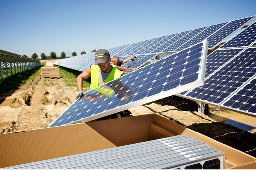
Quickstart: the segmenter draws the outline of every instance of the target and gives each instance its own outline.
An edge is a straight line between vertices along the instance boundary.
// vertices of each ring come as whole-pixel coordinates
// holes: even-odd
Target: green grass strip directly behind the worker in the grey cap
[[[65,84],[69,87],[77,87],[77,76],[81,71],[59,67],[60,77],[62,77]],[[90,80],[83,81],[83,90],[86,91],[90,88]]]

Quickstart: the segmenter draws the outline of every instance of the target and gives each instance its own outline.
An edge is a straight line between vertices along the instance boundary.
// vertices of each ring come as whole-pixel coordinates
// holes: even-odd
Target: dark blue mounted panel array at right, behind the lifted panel
[[[205,85],[179,95],[256,116],[255,30],[256,22],[208,55]]]

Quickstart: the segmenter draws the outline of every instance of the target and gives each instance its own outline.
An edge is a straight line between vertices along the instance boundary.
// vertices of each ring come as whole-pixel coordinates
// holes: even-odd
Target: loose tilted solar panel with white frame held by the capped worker
[[[50,127],[92,121],[203,85],[207,45],[205,40],[85,92]]]

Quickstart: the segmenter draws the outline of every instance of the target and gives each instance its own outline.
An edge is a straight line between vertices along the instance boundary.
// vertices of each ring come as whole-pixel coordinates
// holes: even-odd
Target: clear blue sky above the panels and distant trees
[[[256,0],[0,0],[0,49],[91,53],[256,15]]]

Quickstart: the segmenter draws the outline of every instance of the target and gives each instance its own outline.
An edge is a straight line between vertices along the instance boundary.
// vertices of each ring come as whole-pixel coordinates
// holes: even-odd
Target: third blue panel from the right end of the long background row
[[[192,30],[175,43],[171,42],[171,43],[165,43],[164,45],[161,45],[161,47],[159,47],[159,50],[162,50],[161,52],[175,51],[175,49],[177,49],[177,47],[181,46],[183,43],[187,42],[194,36],[198,35],[200,32],[202,32],[206,28],[207,27]]]

